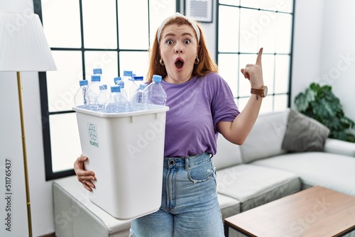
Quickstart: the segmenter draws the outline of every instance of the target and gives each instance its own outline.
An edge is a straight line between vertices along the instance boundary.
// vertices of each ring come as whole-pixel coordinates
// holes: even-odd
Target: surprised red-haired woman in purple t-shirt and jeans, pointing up
[[[201,27],[175,13],[155,34],[147,78],[163,77],[168,95],[160,209],[133,219],[131,236],[224,236],[212,156],[217,134],[241,145],[266,96],[261,70],[262,48],[255,64],[241,73],[251,83],[251,97],[241,113],[229,86],[217,74]],[[92,191],[94,172],[84,170],[87,157],[75,161],[77,178]]]

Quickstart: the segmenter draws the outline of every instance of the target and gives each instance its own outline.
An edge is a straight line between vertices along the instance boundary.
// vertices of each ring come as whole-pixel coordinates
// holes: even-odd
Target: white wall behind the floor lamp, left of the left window
[[[0,11],[31,11],[32,0],[0,1]],[[21,123],[16,72],[0,72],[0,236],[28,236],[26,192],[23,172]],[[33,236],[54,232],[51,182],[45,182],[38,73],[23,72],[23,106],[26,128],[28,175]],[[7,202],[4,195],[4,162],[12,160],[11,232],[5,229]]]

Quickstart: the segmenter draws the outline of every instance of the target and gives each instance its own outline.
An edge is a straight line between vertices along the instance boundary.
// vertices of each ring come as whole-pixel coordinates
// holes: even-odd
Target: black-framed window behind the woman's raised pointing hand
[[[263,79],[268,97],[261,113],[290,106],[293,0],[219,0],[217,62],[240,109],[250,97],[250,83],[240,69],[263,48]]]

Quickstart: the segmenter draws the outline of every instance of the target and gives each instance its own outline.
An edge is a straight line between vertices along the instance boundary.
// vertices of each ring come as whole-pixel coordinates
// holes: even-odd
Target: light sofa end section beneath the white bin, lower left
[[[131,221],[120,221],[90,202],[88,191],[76,176],[53,182],[55,235],[75,236],[129,236]]]

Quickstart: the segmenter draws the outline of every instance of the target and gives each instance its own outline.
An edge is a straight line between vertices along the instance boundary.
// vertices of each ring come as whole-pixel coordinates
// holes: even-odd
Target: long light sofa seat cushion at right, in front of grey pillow
[[[349,156],[322,152],[290,153],[257,160],[253,165],[293,172],[302,180],[303,189],[319,185],[355,196],[355,158]]]

